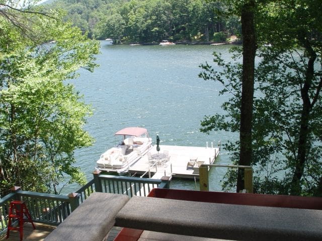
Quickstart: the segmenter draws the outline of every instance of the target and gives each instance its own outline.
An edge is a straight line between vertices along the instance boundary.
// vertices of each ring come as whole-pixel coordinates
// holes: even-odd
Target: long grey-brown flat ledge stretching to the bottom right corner
[[[230,240],[322,240],[322,210],[132,197],[116,226]]]

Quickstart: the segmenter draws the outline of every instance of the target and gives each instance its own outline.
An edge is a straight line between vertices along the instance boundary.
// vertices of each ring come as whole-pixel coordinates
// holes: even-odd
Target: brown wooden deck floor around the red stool
[[[36,229],[34,229],[31,223],[25,223],[23,240],[28,241],[42,241],[49,233],[56,228],[48,224],[35,223]],[[121,230],[121,227],[114,226],[106,241],[113,241],[116,235]],[[20,233],[16,230],[10,230],[9,238],[7,239],[6,233],[0,235],[0,241],[20,241]]]

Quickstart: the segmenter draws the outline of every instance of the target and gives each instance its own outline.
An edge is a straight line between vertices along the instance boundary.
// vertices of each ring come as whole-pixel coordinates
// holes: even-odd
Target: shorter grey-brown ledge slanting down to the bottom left
[[[114,226],[116,214],[128,200],[126,195],[94,192],[44,240],[103,240]]]

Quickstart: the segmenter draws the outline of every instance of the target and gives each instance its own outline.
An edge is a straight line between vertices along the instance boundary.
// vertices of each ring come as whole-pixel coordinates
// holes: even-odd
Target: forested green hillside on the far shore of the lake
[[[57,0],[50,7],[67,12],[66,21],[95,39],[114,43],[225,41],[240,34],[239,18],[222,13],[223,1],[203,0]]]

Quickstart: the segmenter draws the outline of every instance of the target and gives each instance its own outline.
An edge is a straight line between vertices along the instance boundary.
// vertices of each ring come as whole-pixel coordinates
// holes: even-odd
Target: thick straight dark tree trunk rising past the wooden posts
[[[240,153],[239,165],[252,163],[252,118],[254,97],[254,71],[256,55],[256,36],[254,23],[255,1],[250,0],[241,8],[241,33],[243,34],[243,76],[240,106]],[[237,189],[244,186],[244,170],[238,169]]]

